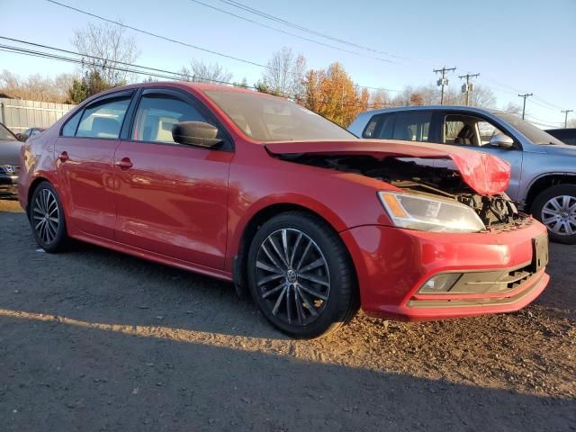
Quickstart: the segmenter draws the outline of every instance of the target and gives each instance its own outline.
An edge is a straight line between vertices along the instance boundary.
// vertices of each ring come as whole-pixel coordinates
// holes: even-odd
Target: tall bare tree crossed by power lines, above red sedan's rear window
[[[85,56],[83,65],[89,74],[98,74],[112,86],[122,85],[130,79],[130,66],[126,64],[133,63],[139,51],[134,38],[126,34],[125,27],[88,23],[85,29],[74,31],[71,42]]]

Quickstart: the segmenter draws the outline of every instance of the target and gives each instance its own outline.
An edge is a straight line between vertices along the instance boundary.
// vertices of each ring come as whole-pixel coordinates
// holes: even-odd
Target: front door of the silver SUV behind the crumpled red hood
[[[465,128],[467,130],[464,130]],[[499,148],[490,145],[491,137],[498,133],[508,135],[513,139],[514,135],[511,132],[490,119],[468,112],[444,112],[442,130],[442,142],[445,144],[490,153],[509,162],[510,183],[506,193],[513,200],[518,200],[524,157],[520,143],[516,142],[515,139],[512,148]]]

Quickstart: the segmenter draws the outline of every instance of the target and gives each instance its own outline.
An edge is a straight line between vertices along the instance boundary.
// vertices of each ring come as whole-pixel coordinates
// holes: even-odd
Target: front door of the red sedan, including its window
[[[190,94],[146,88],[133,116],[129,139],[114,160],[116,239],[196,265],[224,267],[228,223],[231,140],[211,149],[177,144],[172,126],[206,121],[210,112]],[[221,128],[220,128],[221,130]],[[223,130],[220,134],[225,133]]]

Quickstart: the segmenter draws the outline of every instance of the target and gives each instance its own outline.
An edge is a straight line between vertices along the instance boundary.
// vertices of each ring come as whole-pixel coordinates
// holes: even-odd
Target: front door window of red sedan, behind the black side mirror
[[[145,94],[139,102],[131,138],[173,143],[172,126],[180,121],[206,119],[190,103],[166,94]]]

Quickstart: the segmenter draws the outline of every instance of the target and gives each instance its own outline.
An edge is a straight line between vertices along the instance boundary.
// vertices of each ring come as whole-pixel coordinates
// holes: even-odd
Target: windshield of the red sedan
[[[248,137],[258,141],[356,139],[297,103],[257,93],[204,92]]]

